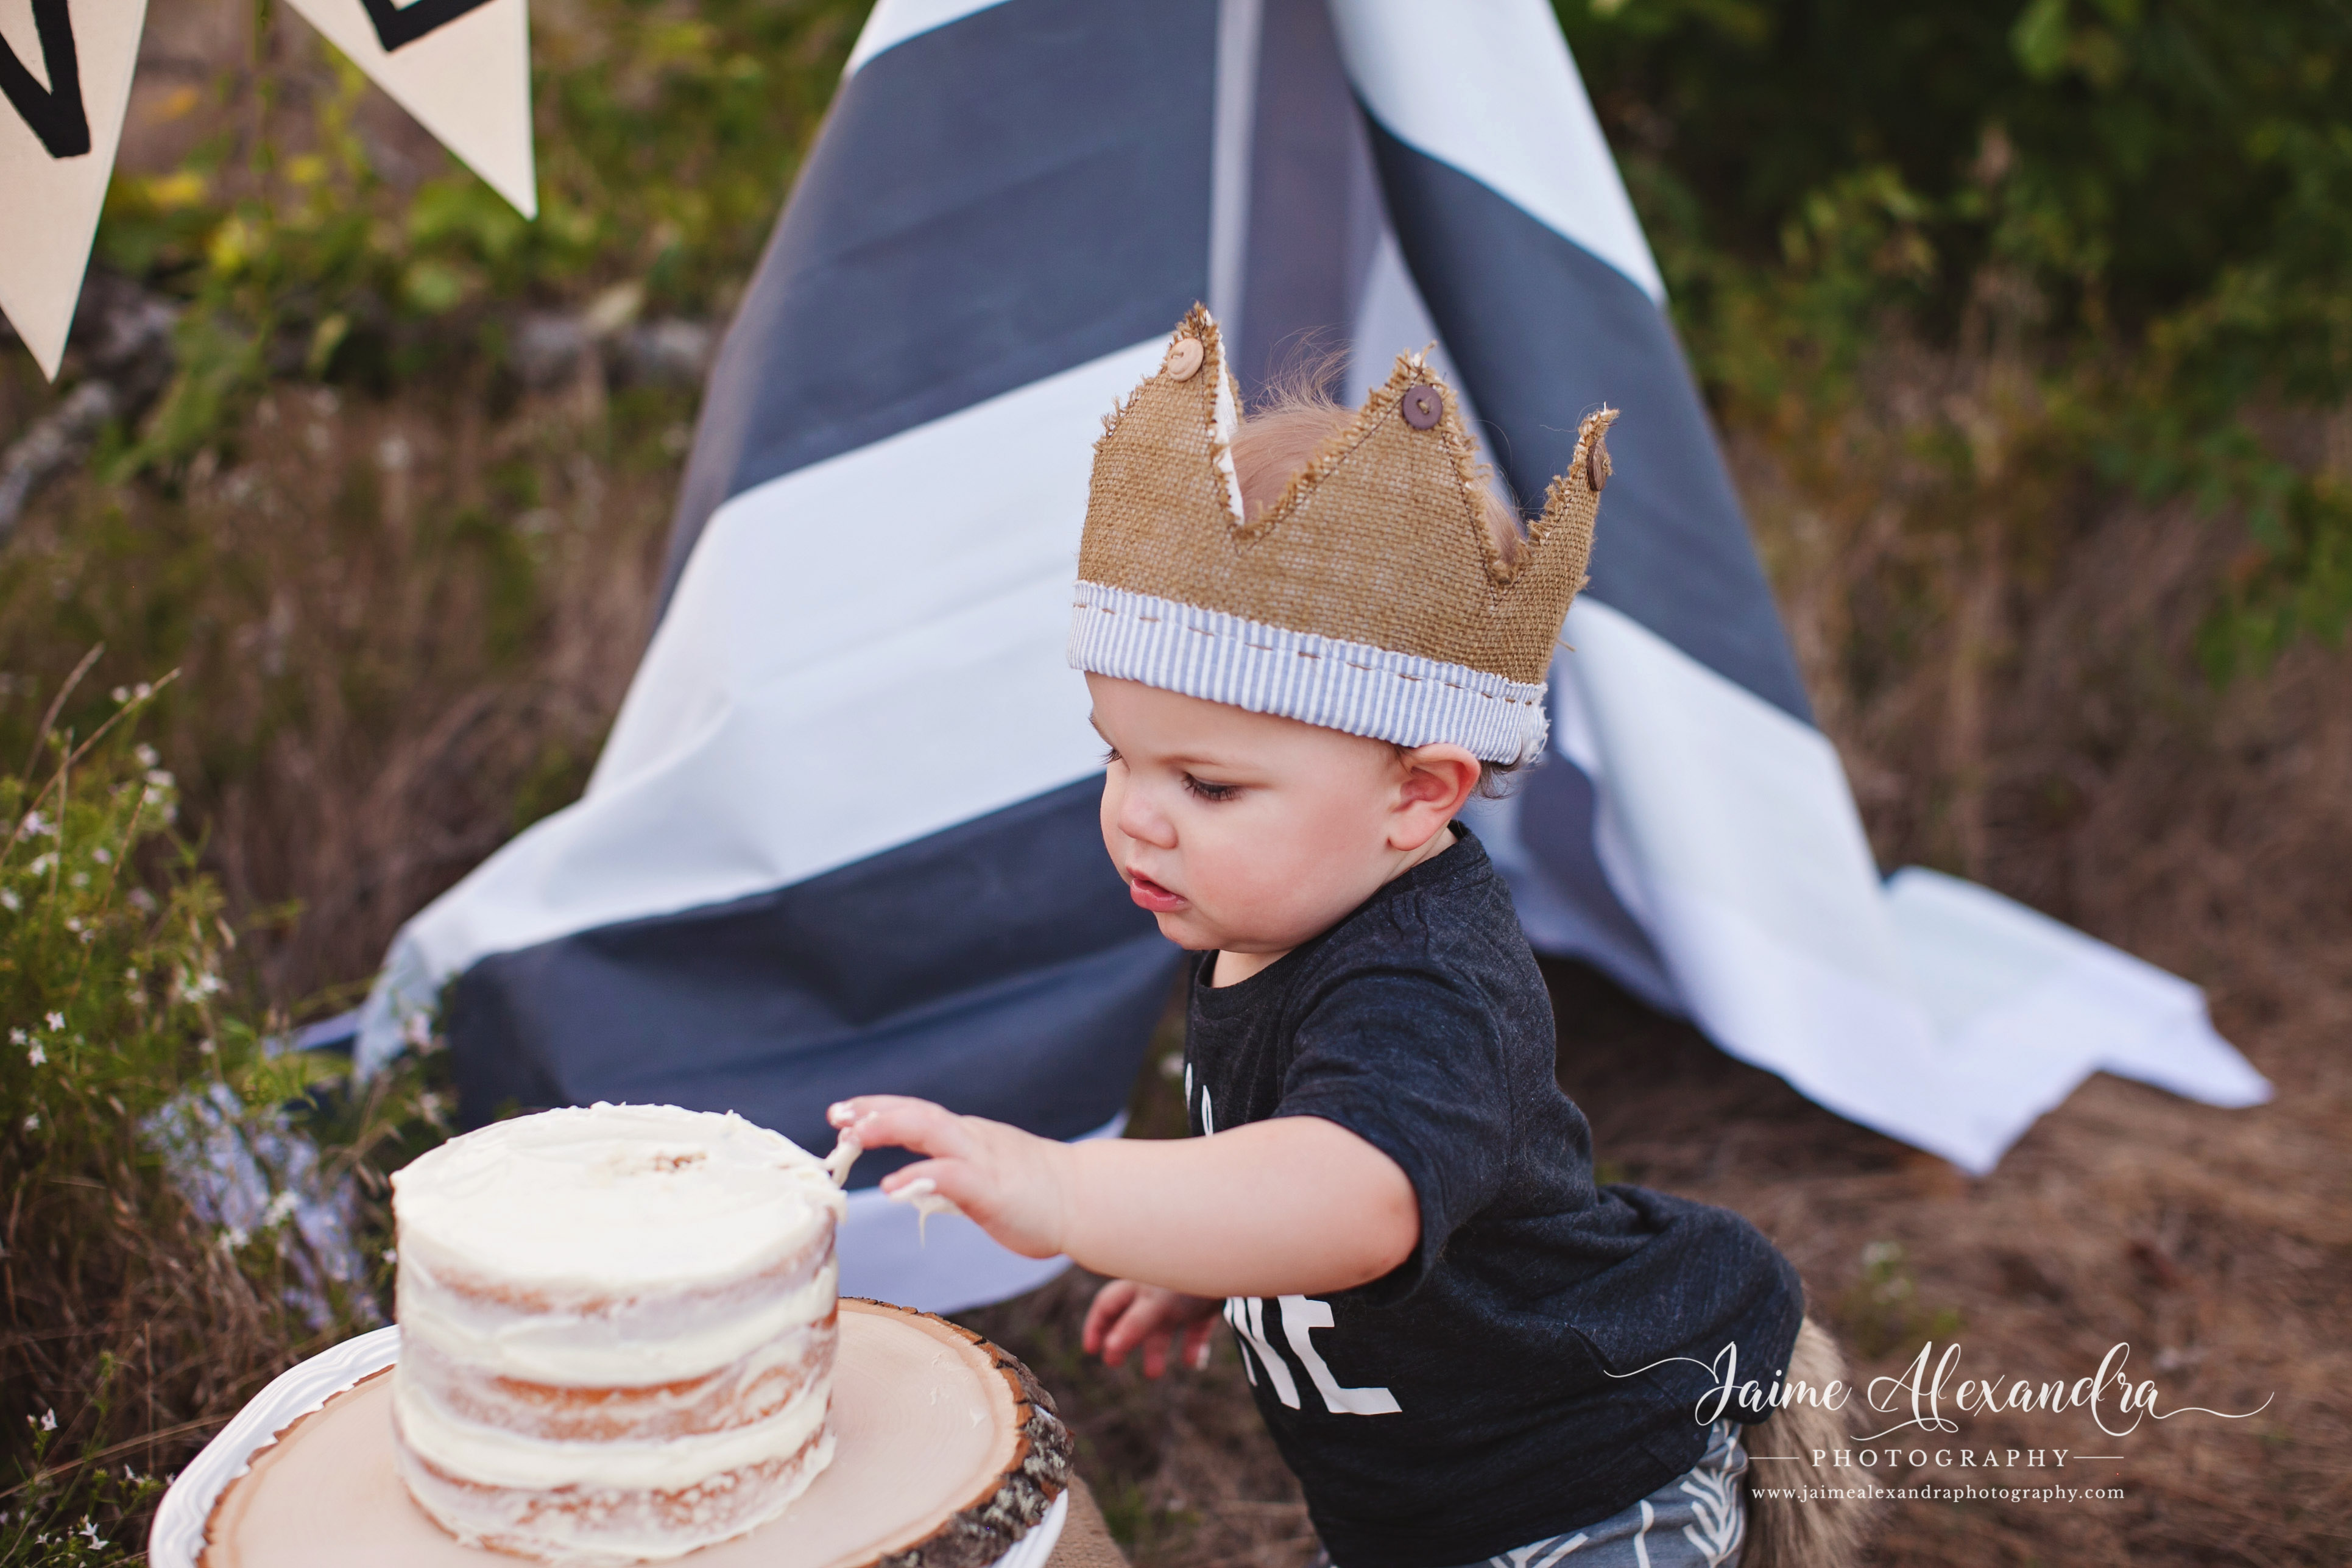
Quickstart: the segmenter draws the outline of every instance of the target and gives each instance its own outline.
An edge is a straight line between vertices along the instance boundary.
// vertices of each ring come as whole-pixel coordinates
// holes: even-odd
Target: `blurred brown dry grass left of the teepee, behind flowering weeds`
[[[153,738],[261,994],[348,997],[402,919],[586,783],[689,416],[600,374],[522,400],[280,388],[179,494],[71,487],[28,517],[0,583],[26,609],[0,630],[14,717],[92,642],[94,691],[176,663]]]

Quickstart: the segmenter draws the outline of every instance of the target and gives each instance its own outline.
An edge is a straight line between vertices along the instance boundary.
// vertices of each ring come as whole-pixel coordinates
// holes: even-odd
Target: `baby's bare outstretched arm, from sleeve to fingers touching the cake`
[[[1185,1295],[1327,1295],[1388,1274],[1421,1241],[1397,1161],[1319,1117],[1084,1143],[903,1095],[842,1100],[830,1119],[868,1150],[929,1154],[887,1175],[884,1192],[929,1178],[1025,1258],[1068,1253]]]

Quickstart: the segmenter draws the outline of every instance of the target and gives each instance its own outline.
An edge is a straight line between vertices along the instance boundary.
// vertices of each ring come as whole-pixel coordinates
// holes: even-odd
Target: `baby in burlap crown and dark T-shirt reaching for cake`
[[[1084,1326],[1105,1361],[1204,1359],[1223,1312],[1343,1568],[1733,1563],[1738,1422],[1771,1410],[1719,1387],[1813,1371],[1755,1227],[1595,1187],[1543,976],[1454,820],[1543,750],[1611,418],[1522,541],[1418,360],[1355,414],[1240,423],[1195,308],[1105,421],[1070,632],[1103,846],[1200,954],[1195,1138],[833,1107],[927,1157],[887,1190],[1110,1274]]]

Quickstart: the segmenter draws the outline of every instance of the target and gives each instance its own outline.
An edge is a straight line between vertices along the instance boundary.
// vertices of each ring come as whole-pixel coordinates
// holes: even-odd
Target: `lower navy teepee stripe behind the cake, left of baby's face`
[[[826,1150],[833,1100],[920,1093],[1087,1133],[1127,1103],[1178,957],[1103,856],[1098,799],[1089,778],[771,893],[487,957],[449,1009],[459,1112],[656,1100]]]

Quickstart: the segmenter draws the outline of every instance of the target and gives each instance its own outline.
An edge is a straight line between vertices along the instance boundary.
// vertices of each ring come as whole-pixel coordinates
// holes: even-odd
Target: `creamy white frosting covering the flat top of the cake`
[[[823,1161],[731,1112],[593,1105],[452,1138],[393,1175],[393,1211],[433,1272],[633,1295],[755,1274],[844,1199]]]

